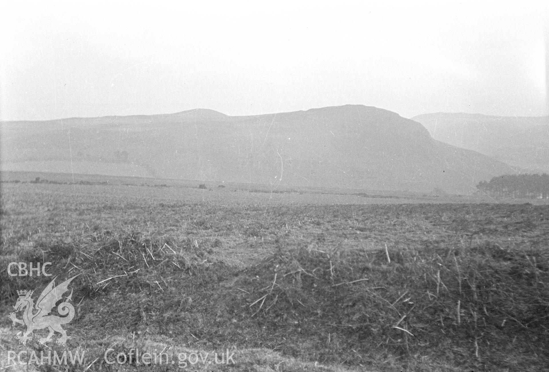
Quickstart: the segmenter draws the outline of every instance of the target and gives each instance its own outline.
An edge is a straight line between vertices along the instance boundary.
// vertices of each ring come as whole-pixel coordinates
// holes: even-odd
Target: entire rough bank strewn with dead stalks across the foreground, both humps
[[[471,249],[279,247],[241,270],[211,262],[208,247],[191,240],[99,238],[80,249],[32,251],[68,274],[83,273],[74,281],[80,306],[71,326],[87,335],[75,343],[98,355],[103,343],[89,340],[118,331],[133,340],[161,335],[212,350],[267,347],[369,368],[520,369],[549,361],[546,250],[504,250],[488,241]],[[4,298],[14,302],[29,279],[4,281]],[[51,279],[33,280],[40,287]]]

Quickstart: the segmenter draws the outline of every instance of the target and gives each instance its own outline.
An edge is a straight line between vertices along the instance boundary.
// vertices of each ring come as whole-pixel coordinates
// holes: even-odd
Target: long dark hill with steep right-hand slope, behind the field
[[[3,122],[2,169],[452,193],[514,171],[362,105]]]

